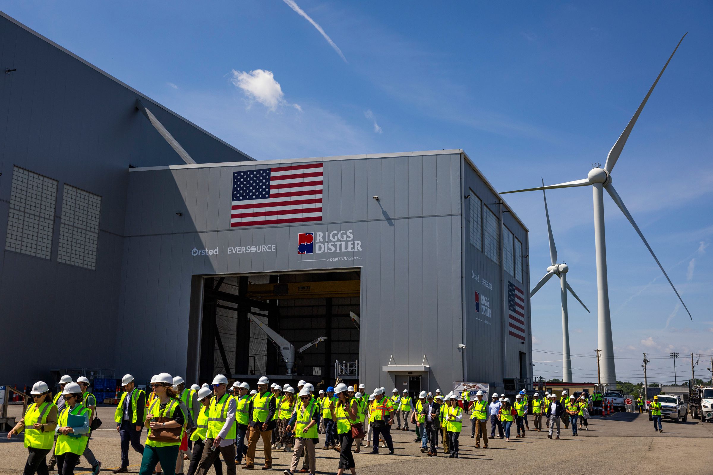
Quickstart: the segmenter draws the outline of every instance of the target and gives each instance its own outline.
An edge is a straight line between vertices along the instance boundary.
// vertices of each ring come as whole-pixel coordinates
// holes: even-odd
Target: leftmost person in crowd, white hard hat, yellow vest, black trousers
[[[38,381],[30,391],[34,402],[27,406],[24,417],[7,433],[11,439],[14,434],[25,431],[25,447],[28,451],[24,475],[35,473],[48,474],[46,457],[54,442],[54,429],[57,427],[57,406],[51,402],[52,395],[47,383]]]

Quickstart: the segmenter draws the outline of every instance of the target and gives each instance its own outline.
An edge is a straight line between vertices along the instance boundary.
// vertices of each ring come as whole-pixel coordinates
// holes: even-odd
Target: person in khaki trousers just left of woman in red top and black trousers
[[[359,393],[357,393],[359,394]],[[307,469],[310,474],[317,471],[315,466],[314,446],[317,444],[317,425],[319,421],[319,404],[312,397],[309,390],[303,387],[299,391],[299,402],[295,404],[294,414],[289,419],[287,430],[292,431],[294,427],[294,451],[292,452],[292,464],[286,473],[294,474],[297,470],[299,457],[304,454],[304,461],[307,462]],[[303,466],[304,467],[304,466]],[[304,473],[304,471],[300,471]]]

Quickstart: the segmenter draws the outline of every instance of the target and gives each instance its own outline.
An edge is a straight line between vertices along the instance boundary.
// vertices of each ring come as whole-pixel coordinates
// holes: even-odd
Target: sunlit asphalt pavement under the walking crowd
[[[10,407],[10,416],[19,416],[21,408]],[[113,407],[99,407],[98,414],[103,421],[100,429],[93,432],[91,448],[97,459],[102,461],[101,474],[108,475],[120,464],[119,436],[113,422]],[[469,416],[466,416],[469,417]],[[532,417],[530,427],[533,427]],[[580,431],[572,437],[571,429],[561,426],[560,440],[550,440],[547,432],[528,431],[524,438],[515,437],[515,427],[511,430],[511,442],[501,439],[488,440],[489,448],[475,448],[471,439],[469,421],[463,422],[461,432],[460,457],[450,459],[439,452],[431,458],[422,454],[420,444],[414,442],[416,434],[401,432],[393,427],[396,453],[388,455],[380,449],[379,455],[369,455],[364,447],[360,454],[354,454],[357,474],[442,474],[462,473],[476,469],[483,473],[500,474],[641,474],[655,471],[691,470],[691,473],[713,473],[709,456],[713,448],[713,424],[701,423],[689,417],[687,423],[663,422],[663,433],[654,432],[648,414],[617,413],[610,417],[589,419],[589,430]],[[142,440],[145,439],[145,431]],[[323,435],[321,441],[324,442]],[[22,437],[11,440],[6,433],[0,433],[0,475],[21,474],[27,458]],[[320,444],[321,446],[321,444]],[[275,473],[289,467],[292,454],[273,450],[273,470]],[[140,455],[129,449],[129,471],[138,473]],[[259,442],[255,468],[264,463],[262,442]],[[339,454],[336,451],[317,449],[317,471],[321,474],[337,473]],[[86,459],[81,459],[76,475],[90,473]],[[188,461],[184,471],[188,470]],[[242,472],[240,468],[238,473]]]

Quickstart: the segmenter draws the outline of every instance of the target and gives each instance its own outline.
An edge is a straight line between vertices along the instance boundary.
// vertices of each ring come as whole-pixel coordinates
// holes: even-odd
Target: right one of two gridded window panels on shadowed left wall
[[[64,185],[58,262],[92,270],[96,268],[100,212],[100,196]]]

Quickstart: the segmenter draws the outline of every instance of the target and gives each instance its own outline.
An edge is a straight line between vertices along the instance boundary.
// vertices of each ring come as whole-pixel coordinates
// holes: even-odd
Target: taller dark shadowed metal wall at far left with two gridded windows
[[[48,370],[63,367],[123,370],[114,346],[128,167],[181,162],[138,97],[195,160],[250,160],[0,13],[0,323],[4,354],[17,355],[0,367],[3,384],[51,382]],[[4,250],[13,165],[59,181],[49,261]],[[96,271],[56,262],[65,182],[102,197]]]

